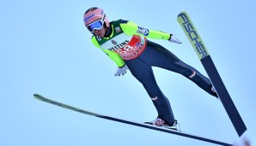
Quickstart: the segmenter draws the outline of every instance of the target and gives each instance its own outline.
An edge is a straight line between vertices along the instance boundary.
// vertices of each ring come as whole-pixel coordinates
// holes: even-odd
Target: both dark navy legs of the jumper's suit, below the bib
[[[140,56],[134,60],[125,61],[125,63],[132,75],[143,84],[143,87],[148,92],[158,112],[158,117],[167,121],[169,125],[174,123],[174,114],[168,98],[163,95],[155,81],[152,67],[162,67],[169,71],[180,73],[210,95],[216,96],[210,90],[212,86],[210,79],[204,77],[195,68],[180,61],[169,50],[149,40],[146,49]]]

